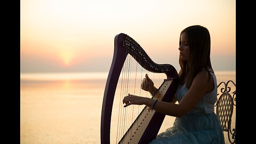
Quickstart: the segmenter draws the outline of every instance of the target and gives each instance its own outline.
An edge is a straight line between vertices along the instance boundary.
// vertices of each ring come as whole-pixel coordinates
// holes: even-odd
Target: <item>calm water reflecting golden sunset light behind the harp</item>
[[[100,143],[107,75],[21,74],[20,143]],[[236,82],[235,71],[217,71],[216,75],[218,83],[229,79]],[[171,127],[174,119],[166,116],[159,132]]]

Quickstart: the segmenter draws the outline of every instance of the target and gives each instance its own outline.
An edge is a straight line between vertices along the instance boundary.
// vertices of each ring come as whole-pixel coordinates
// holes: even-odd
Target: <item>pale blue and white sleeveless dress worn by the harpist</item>
[[[217,115],[214,113],[214,103],[217,100],[217,79],[211,73],[214,81],[214,90],[205,94],[198,105],[182,117],[176,117],[173,126],[159,133],[149,142],[156,143],[225,143],[222,127]],[[185,84],[175,93],[180,102],[188,89]]]

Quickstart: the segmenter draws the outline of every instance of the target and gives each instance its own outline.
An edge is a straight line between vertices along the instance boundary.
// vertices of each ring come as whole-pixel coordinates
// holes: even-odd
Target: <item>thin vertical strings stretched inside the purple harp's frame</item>
[[[139,64],[141,60],[137,62],[135,59],[130,54],[127,54],[121,74],[119,76],[116,94],[114,97],[115,100],[113,103],[113,105],[118,106],[116,106],[116,110],[115,106],[113,106],[112,117],[115,118],[111,118],[110,133],[113,133],[111,134],[113,135],[111,136],[111,139],[113,139],[111,140],[112,143],[118,143],[122,139],[123,135],[131,127],[132,123],[145,107],[145,105],[132,105],[124,108],[123,98],[129,93],[148,98],[152,97],[149,92],[141,89],[141,82],[143,81],[143,78],[145,78],[146,74],[148,74],[149,78],[154,82],[154,85],[157,88],[162,84],[163,79],[166,78],[165,74],[151,73],[150,71],[144,69]],[[139,124],[137,123],[133,126],[137,127],[138,129],[138,125]],[[129,135],[129,137],[132,137],[132,135]]]

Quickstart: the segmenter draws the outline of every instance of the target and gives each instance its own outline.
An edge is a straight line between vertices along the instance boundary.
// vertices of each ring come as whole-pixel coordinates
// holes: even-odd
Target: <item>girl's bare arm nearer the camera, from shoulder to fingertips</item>
[[[198,73],[191,86],[188,90],[187,94],[181,99],[179,104],[172,102],[164,102],[158,101],[155,104],[154,110],[158,113],[162,113],[165,115],[181,117],[188,113],[191,109],[193,109],[197,103],[201,100],[204,94],[211,92],[214,89],[213,78],[211,77],[211,81],[207,81],[209,73],[206,71],[201,71]],[[136,95],[128,95],[123,99],[123,103],[125,103],[124,107],[130,105],[147,105],[151,107],[154,103],[154,99],[138,97]]]

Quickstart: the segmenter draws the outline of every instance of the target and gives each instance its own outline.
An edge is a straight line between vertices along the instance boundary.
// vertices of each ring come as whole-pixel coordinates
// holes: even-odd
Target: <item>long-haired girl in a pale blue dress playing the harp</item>
[[[157,135],[153,143],[225,143],[214,103],[217,79],[210,60],[209,30],[196,25],[185,28],[179,41],[179,86],[172,102],[128,95],[124,107],[147,105],[158,113],[175,116],[173,126]],[[146,75],[141,88],[154,95],[157,88]],[[175,103],[178,101],[178,104]]]

